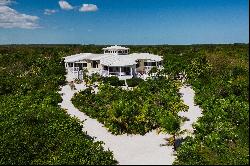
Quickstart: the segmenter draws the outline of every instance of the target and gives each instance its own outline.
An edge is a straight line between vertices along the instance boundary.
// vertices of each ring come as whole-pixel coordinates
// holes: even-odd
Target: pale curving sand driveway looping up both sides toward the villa
[[[77,90],[71,90],[69,85],[61,87],[59,93],[63,93],[63,101],[61,107],[67,109],[70,116],[76,116],[78,119],[86,120],[84,122],[83,131],[95,140],[103,141],[104,148],[113,151],[115,159],[121,165],[171,165],[175,160],[172,146],[160,146],[165,144],[163,138],[169,137],[167,134],[157,134],[156,131],[141,135],[112,135],[107,131],[101,123],[96,119],[91,119],[83,112],[80,112],[71,103],[71,98],[74,93],[85,89],[83,84],[75,84]],[[192,123],[201,116],[201,109],[194,106],[194,91],[187,86],[180,89],[183,94],[183,100],[189,106],[188,112],[180,113],[181,116],[186,116],[190,119],[183,124],[182,129],[192,130]]]

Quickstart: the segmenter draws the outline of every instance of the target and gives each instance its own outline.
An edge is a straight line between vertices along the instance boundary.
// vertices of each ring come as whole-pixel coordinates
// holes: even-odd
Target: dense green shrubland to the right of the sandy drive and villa
[[[132,47],[164,55],[166,73],[184,73],[203,117],[177,150],[175,164],[249,164],[249,45]]]

